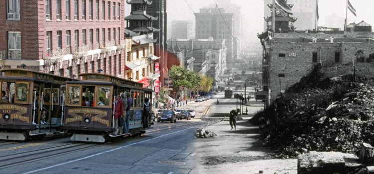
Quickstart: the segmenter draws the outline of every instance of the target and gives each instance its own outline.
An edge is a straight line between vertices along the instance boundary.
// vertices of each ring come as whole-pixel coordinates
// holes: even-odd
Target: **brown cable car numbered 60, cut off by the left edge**
[[[66,81],[27,69],[0,70],[0,139],[41,139],[61,133]]]

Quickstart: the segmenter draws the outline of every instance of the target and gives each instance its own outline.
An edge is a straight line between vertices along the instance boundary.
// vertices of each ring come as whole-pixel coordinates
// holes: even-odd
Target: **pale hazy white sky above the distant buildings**
[[[196,13],[199,12],[200,8],[214,3],[214,0],[186,1]],[[357,17],[348,11],[348,23],[358,23],[364,20],[370,25],[374,25],[374,0],[350,0],[350,2],[357,11]],[[171,25],[173,20],[195,21],[193,12],[189,9],[187,3],[185,0],[167,0],[168,25]],[[253,40],[253,42],[258,42],[257,33],[264,31],[264,1],[231,0],[231,3],[236,3],[242,7],[241,13],[244,21],[243,27],[245,27],[245,35],[243,37]],[[126,9],[127,15],[130,13],[128,9],[129,8]],[[340,28],[343,28],[344,18],[346,16],[346,0],[319,0],[319,14],[319,26],[337,27],[330,26],[328,20],[329,16],[337,16],[337,18],[343,19],[342,24],[340,25]]]

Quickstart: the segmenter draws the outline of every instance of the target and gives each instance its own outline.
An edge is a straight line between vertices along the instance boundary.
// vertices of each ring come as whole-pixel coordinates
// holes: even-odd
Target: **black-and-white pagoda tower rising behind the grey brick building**
[[[294,22],[297,20],[296,17],[292,17],[293,4],[287,4],[287,0],[276,0],[275,8],[273,4],[268,4],[270,8],[271,16],[265,19],[267,25],[267,31],[272,31],[271,21],[273,19],[273,10],[275,9],[275,31],[274,32],[293,32],[296,30]],[[270,23],[270,24],[269,24]]]

